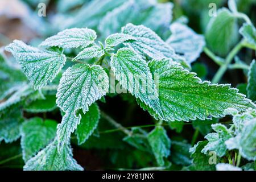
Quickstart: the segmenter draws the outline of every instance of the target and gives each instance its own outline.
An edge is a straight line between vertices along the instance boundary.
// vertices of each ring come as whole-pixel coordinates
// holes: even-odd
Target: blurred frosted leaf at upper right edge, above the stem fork
[[[252,24],[243,23],[239,32],[246,40],[246,44],[249,44],[251,48],[256,49],[256,28]]]

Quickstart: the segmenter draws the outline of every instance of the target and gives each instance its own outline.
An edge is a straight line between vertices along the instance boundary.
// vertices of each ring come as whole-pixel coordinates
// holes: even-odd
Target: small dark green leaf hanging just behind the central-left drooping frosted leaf
[[[96,103],[92,104],[85,114],[81,113],[81,121],[76,129],[76,136],[79,145],[84,143],[90,135],[92,135],[93,131],[98,126],[99,119],[100,110]]]

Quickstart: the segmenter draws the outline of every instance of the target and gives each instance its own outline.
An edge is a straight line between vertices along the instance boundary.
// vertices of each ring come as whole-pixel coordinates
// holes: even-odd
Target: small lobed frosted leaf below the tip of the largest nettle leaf
[[[208,140],[207,145],[203,148],[202,152],[207,154],[209,151],[214,151],[220,157],[226,154],[226,144],[225,141],[232,138],[232,132],[226,128],[225,125],[220,123],[213,124],[212,129],[216,133],[209,133],[205,136]]]

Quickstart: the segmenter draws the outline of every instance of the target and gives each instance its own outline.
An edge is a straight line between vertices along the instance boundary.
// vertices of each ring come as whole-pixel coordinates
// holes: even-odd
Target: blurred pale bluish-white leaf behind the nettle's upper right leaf
[[[172,35],[167,43],[174,48],[175,52],[184,56],[189,64],[195,61],[205,46],[203,35],[198,35],[185,24],[175,22],[170,26]]]

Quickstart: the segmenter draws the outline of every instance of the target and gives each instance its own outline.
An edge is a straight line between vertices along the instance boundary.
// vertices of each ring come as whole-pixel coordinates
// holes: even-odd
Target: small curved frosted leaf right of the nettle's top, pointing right
[[[108,47],[114,47],[114,46],[117,46],[118,44],[126,42],[127,40],[135,40],[135,39],[136,38],[134,38],[131,35],[116,33],[116,34],[109,35],[108,38],[106,38],[105,40],[105,44]]]

